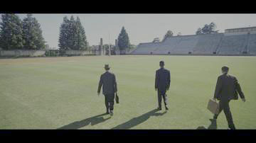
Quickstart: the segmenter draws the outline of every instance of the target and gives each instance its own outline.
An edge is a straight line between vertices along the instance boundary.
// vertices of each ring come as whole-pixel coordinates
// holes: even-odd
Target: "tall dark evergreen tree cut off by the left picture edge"
[[[4,50],[23,48],[22,23],[16,14],[1,14],[0,47]]]

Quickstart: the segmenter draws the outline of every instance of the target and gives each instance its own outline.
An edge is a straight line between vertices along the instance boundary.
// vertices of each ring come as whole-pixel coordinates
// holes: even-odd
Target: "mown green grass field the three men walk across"
[[[155,71],[171,71],[169,111],[156,111]],[[117,78],[119,104],[105,113],[97,96],[104,64]],[[231,101],[238,129],[256,129],[256,57],[112,56],[0,59],[0,129],[197,129],[208,127],[206,109],[220,68],[230,67],[246,102]],[[164,104],[164,103],[163,103]],[[218,129],[228,129],[224,113]]]

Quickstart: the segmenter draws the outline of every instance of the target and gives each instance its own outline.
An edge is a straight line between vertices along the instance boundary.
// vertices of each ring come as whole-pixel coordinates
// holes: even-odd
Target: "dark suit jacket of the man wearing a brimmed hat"
[[[97,90],[98,93],[100,93],[102,85],[104,95],[113,95],[115,92],[117,92],[117,81],[114,74],[110,73],[109,71],[106,71],[100,76],[100,83]]]

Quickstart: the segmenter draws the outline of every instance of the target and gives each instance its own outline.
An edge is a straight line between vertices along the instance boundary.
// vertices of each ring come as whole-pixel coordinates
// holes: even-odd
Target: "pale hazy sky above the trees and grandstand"
[[[174,35],[194,35],[198,28],[214,22],[217,30],[224,33],[228,28],[256,26],[256,14],[33,14],[41,24],[43,38],[50,47],[58,48],[58,36],[63,17],[79,16],[85,28],[89,45],[113,44],[122,26],[127,30],[130,43],[151,42],[154,38],[162,40],[167,30]],[[23,19],[26,14],[18,14]],[[1,19],[0,19],[1,22]]]

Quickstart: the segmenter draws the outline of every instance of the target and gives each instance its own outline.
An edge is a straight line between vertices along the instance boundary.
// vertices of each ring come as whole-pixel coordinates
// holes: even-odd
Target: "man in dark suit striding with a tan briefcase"
[[[216,99],[218,99],[218,101],[220,101],[220,112],[222,110],[224,111],[228,121],[228,127],[231,130],[235,130],[229,102],[230,100],[238,100],[238,93],[242,101],[245,102],[245,96],[242,93],[238,79],[236,79],[235,76],[228,74],[228,69],[227,66],[221,68],[223,74],[218,76],[213,100],[216,101]],[[217,120],[217,118],[218,115],[213,116],[213,120]]]

